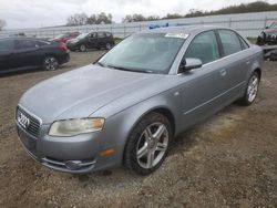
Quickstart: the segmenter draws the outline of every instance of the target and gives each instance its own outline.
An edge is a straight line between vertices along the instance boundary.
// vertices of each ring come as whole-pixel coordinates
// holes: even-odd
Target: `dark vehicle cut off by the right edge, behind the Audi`
[[[277,20],[275,20],[269,27],[266,27],[257,39],[258,45],[264,44],[277,44]]]

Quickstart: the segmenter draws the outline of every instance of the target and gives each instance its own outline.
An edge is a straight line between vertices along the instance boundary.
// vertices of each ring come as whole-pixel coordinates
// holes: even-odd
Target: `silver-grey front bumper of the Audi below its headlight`
[[[35,138],[17,123],[18,136],[27,153],[37,162],[51,169],[83,174],[101,168],[99,141],[93,134],[74,137]]]

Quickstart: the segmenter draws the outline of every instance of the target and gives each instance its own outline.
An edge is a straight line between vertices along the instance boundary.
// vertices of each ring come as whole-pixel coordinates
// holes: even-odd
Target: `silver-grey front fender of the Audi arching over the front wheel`
[[[107,106],[106,106],[107,107]],[[106,108],[104,107],[104,108]],[[109,107],[114,107],[109,106]],[[95,112],[92,116],[103,116],[106,110],[100,110]],[[116,149],[116,160],[122,162],[124,147],[129,138],[130,133],[135,127],[135,125],[152,111],[157,108],[165,108],[170,111],[175,119],[175,132],[178,132],[181,123],[181,95],[176,89],[170,90],[162,94],[152,96],[140,103],[136,103],[114,115],[107,117],[105,121],[105,126],[101,135],[100,147],[101,149],[115,148]]]

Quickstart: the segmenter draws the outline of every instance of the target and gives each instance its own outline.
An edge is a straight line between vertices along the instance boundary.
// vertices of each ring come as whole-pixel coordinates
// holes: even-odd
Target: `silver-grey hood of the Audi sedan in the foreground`
[[[88,65],[54,76],[28,90],[20,105],[43,124],[55,119],[88,117],[102,106],[161,80],[146,74]]]

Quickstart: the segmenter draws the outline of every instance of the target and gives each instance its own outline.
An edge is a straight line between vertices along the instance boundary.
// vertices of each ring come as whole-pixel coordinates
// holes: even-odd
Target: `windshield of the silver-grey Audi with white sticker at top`
[[[117,70],[168,73],[186,34],[140,33],[123,40],[99,64]]]

